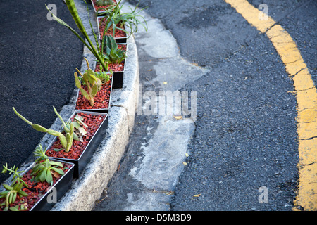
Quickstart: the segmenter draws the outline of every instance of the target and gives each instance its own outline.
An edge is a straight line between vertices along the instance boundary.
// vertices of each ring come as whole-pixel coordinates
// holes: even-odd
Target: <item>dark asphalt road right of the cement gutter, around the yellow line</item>
[[[316,84],[316,1],[250,3],[268,5]],[[142,0],[144,6],[172,32],[182,57],[211,68],[184,88],[197,91],[197,127],[172,210],[292,210],[296,98],[271,41],[225,1]],[[261,186],[268,188],[268,203],[259,203]]]

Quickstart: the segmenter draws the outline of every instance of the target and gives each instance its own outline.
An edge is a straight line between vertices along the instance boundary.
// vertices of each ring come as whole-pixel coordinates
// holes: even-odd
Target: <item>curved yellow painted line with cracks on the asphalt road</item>
[[[271,40],[292,78],[297,96],[299,186],[293,210],[317,210],[317,91],[297,44],[280,25],[246,0],[225,0]],[[308,22],[309,23],[309,22]]]

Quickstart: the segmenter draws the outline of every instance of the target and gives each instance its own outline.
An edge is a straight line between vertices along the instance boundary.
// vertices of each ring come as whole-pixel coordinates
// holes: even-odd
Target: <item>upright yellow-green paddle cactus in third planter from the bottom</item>
[[[89,68],[88,60],[85,58],[88,70],[82,75],[81,72],[76,68],[77,72],[80,73],[82,80],[85,82],[85,86],[87,87],[87,91],[82,86],[82,82],[78,78],[77,72],[74,73],[75,76],[75,85],[77,88],[80,89],[82,95],[89,100],[90,105],[94,106],[94,97],[96,96],[97,92],[100,91],[102,82],[99,78],[94,76],[94,71]],[[83,82],[83,83],[84,83]]]

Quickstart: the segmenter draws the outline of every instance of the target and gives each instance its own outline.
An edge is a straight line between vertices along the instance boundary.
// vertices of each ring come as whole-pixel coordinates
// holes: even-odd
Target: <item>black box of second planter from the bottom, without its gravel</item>
[[[106,129],[108,127],[108,114],[107,113],[97,113],[97,112],[89,112],[85,110],[75,110],[73,115],[70,117],[72,118],[77,113],[85,113],[89,115],[105,115],[104,121],[101,122],[99,128],[95,132],[94,136],[92,136],[92,139],[90,139],[89,143],[87,144],[86,148],[82,152],[82,155],[80,155],[80,158],[77,160],[75,159],[68,159],[68,158],[55,158],[55,157],[49,157],[52,160],[63,160],[66,162],[71,162],[74,164],[74,173],[73,177],[77,179],[79,175],[82,173],[82,171],[85,169],[86,165],[89,163],[89,160],[92,158],[92,155],[94,155],[94,151],[98,148],[101,141],[104,139],[106,135]],[[68,120],[70,121],[70,119]],[[49,146],[46,149],[51,148],[51,146],[54,144],[54,142],[58,139],[56,136],[53,141],[49,144]]]

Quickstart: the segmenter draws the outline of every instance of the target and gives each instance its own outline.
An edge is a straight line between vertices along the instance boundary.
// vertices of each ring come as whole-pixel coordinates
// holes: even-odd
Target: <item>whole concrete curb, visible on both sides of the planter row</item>
[[[82,23],[89,36],[94,40],[90,30],[89,19],[87,15],[87,5],[84,1],[75,0],[77,11],[80,14]],[[89,16],[95,32],[97,31],[96,15],[89,5]],[[74,37],[75,38],[75,37]],[[54,205],[52,211],[89,211],[94,207],[94,203],[101,196],[106,188],[108,181],[118,168],[118,162],[121,160],[125,147],[128,144],[130,133],[135,122],[135,113],[137,110],[139,98],[139,61],[137,56],[137,46],[135,38],[131,36],[127,40],[127,58],[125,60],[125,72],[123,78],[123,88],[113,89],[111,93],[111,108],[108,113],[108,127],[106,136],[96,149],[92,159],[80,174],[80,178],[73,179],[72,187]],[[95,58],[92,53],[84,46],[83,57],[87,58],[92,65]],[[82,59],[81,72],[87,69],[87,64]],[[75,68],[74,68],[75,72]],[[63,120],[68,120],[75,110],[75,101],[77,97],[77,88],[74,86],[73,95],[70,103],[64,105],[59,114]],[[56,118],[50,129],[60,129],[61,121]],[[42,146],[48,146],[53,141],[54,136],[45,134],[40,141]],[[34,162],[33,155],[20,166],[24,170]],[[7,179],[4,183],[9,183]]]

